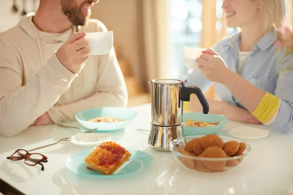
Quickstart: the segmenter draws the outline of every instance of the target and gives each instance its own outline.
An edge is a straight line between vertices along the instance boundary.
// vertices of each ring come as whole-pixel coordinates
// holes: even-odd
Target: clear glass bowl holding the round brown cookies
[[[225,157],[225,158],[210,158],[210,157],[200,157],[200,156],[189,156],[189,155],[178,152],[178,150],[183,150],[186,143],[190,141],[191,139],[201,138],[201,137],[204,137],[204,136],[180,137],[170,142],[171,152],[173,156],[175,157],[175,159],[183,167],[193,172],[214,174],[214,173],[223,173],[223,172],[234,170],[243,163],[243,160],[251,151],[250,145],[244,142],[246,144],[246,149],[243,151],[242,155],[239,155],[239,156],[231,156],[231,157]],[[241,140],[238,140],[232,137],[223,137],[223,136],[219,136],[219,137],[223,140],[224,143],[227,141],[237,141],[238,143],[243,142]]]

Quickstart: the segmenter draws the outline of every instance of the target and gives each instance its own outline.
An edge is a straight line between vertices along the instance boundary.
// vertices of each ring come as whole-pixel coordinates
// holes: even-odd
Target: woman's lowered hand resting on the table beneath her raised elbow
[[[251,124],[262,124],[256,117],[254,117],[248,110],[229,105],[224,110],[224,116],[229,120],[236,122],[245,122]]]

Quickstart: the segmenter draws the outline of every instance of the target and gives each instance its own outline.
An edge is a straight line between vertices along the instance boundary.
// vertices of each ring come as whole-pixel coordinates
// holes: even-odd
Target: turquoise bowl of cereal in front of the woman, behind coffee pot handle
[[[216,134],[228,122],[228,118],[203,113],[183,113],[184,136]]]

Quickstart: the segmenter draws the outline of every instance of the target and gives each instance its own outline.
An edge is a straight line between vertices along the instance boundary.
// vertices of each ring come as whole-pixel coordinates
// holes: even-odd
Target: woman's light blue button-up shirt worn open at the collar
[[[276,51],[273,46],[276,39],[277,32],[270,31],[253,46],[251,55],[245,61],[242,77],[252,85],[281,99],[279,114],[271,126],[282,133],[290,133],[293,131],[293,57]],[[238,68],[239,42],[238,32],[221,39],[213,46],[234,72],[237,72]],[[196,86],[205,92],[213,84],[204,78],[199,70],[188,72],[187,86]],[[216,83],[216,94],[220,101],[244,108],[220,83]]]

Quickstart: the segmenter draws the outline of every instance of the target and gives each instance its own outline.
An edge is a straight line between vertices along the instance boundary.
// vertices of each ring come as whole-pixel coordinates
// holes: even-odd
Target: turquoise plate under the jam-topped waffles
[[[145,171],[153,163],[153,157],[145,152],[134,149],[126,150],[128,150],[131,154],[131,156],[129,157],[129,161],[124,163],[112,175],[103,175],[99,172],[86,169],[87,165],[84,159],[91,153],[92,149],[84,150],[82,152],[69,156],[66,159],[65,165],[70,171],[74,172],[78,176],[95,178],[121,178],[133,176],[142,171]]]

